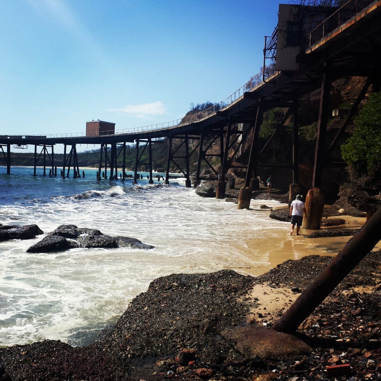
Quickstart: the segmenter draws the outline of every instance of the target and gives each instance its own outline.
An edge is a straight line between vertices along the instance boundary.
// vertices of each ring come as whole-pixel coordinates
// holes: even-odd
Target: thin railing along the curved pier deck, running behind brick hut
[[[272,75],[275,73],[274,64],[269,64],[263,69],[266,74]],[[178,126],[186,126],[194,122],[199,122],[205,118],[210,117],[215,114],[219,110],[227,109],[233,102],[237,101],[239,98],[243,96],[243,93],[246,91],[253,90],[254,88],[260,86],[263,83],[263,70],[261,70],[258,74],[248,80],[243,86],[241,86],[238,90],[234,91],[230,96],[225,98],[223,101],[219,103],[215,103],[213,106],[202,110],[196,114],[187,115],[182,117],[181,119],[171,120],[170,122],[157,123],[148,126],[142,127],[132,127],[132,128],[124,128],[123,130],[109,130],[102,131],[101,136],[113,136],[113,135],[126,135],[126,134],[136,134],[139,132],[149,132],[156,130],[168,130],[170,128],[178,127]],[[10,136],[10,135],[6,135]],[[49,135],[22,135],[17,136],[20,139],[34,139],[34,138],[78,138],[78,137],[88,137],[93,138],[99,135],[86,136],[86,132],[77,132],[77,133],[67,133],[67,134],[49,134]]]

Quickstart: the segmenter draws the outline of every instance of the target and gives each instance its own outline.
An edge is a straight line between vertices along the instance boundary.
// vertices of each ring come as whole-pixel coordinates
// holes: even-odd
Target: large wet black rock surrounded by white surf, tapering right
[[[27,253],[49,253],[51,251],[71,248],[118,248],[131,247],[135,249],[152,249],[136,238],[111,237],[102,234],[97,229],[77,227],[75,225],[60,225],[40,242],[27,249]]]

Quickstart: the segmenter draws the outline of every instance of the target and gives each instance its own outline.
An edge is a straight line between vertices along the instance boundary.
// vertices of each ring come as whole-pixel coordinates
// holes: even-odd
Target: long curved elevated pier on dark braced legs
[[[379,59],[375,51],[381,47],[380,14],[380,0],[301,0],[280,4],[278,26],[265,41],[263,69],[223,101],[181,120],[130,130],[110,130],[98,136],[90,134],[90,131],[88,135],[92,136],[86,136],[86,133],[51,136],[1,135],[0,147],[7,173],[11,170],[11,144],[34,145],[35,167],[37,160],[41,160],[42,157],[42,160],[50,160],[49,166],[52,165],[52,169],[53,146],[63,144],[65,148],[70,146],[70,152],[66,155],[65,150],[62,177],[69,176],[69,169],[73,167],[74,177],[78,178],[76,144],[97,144],[101,147],[97,178],[117,179],[116,168],[119,163],[123,166],[123,180],[126,143],[136,144],[136,168],[141,164],[139,158],[142,157],[141,144],[144,144],[144,149],[147,147],[149,151],[150,145],[157,139],[167,138],[169,141],[167,182],[170,179],[169,168],[172,165],[180,170],[187,186],[190,186],[189,160],[192,155],[198,155],[197,181],[204,179],[201,168],[202,165],[206,165],[212,172],[208,179],[225,182],[229,168],[237,166],[235,158],[240,150],[249,146],[251,153],[247,164],[238,165],[246,169],[245,183],[248,188],[256,186],[256,174],[260,167],[284,168],[290,173],[290,182],[297,183],[299,98],[320,88],[319,128],[312,179],[312,183],[319,186],[329,154],[340,141],[342,132],[365,92],[370,85],[374,88],[379,87],[380,76],[377,70]],[[328,144],[330,148],[327,152],[325,147],[330,84],[348,75],[366,77],[367,85],[349,110],[338,135]],[[293,154],[286,163],[261,162],[263,152],[266,152],[271,139],[277,130],[282,128],[281,125],[277,127],[266,144],[259,147],[258,136],[263,113],[274,107],[287,108],[288,115],[293,115]],[[250,142],[247,141],[249,136]],[[178,141],[178,144],[174,144],[174,141]],[[197,141],[197,145],[190,148],[190,141]],[[38,146],[51,147],[51,155],[46,155],[47,150],[43,149],[37,158]],[[107,146],[111,146],[111,151],[107,150]],[[179,148],[174,148],[178,146],[184,147],[185,153],[180,154]],[[217,153],[216,146],[218,146]],[[211,147],[214,147],[213,152]],[[102,158],[106,158],[104,176],[101,174]],[[144,165],[147,165],[152,173],[152,158]],[[107,167],[111,170],[110,176],[107,176]],[[138,181],[137,174],[134,180]],[[223,184],[221,186],[224,187]],[[250,192],[248,194],[250,195]],[[219,197],[224,197],[224,192],[219,192]]]

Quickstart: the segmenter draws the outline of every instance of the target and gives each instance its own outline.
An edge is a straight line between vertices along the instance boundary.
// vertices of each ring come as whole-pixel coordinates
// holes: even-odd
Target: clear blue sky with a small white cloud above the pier
[[[139,127],[222,101],[259,72],[279,3],[2,0],[0,134]]]

